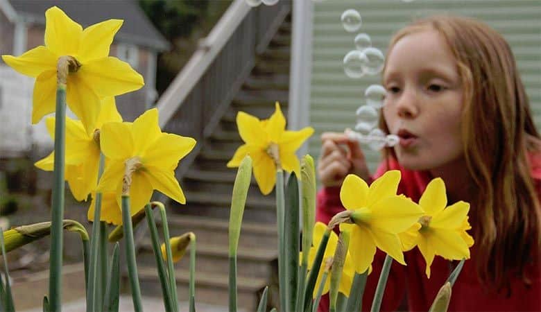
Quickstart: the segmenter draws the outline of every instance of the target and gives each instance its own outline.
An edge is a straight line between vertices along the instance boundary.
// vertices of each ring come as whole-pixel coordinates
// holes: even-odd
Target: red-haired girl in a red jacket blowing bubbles
[[[428,182],[442,177],[449,204],[470,202],[471,259],[452,290],[449,311],[541,311],[541,139],[513,54],[479,21],[436,16],[399,31],[383,71],[387,91],[380,126],[400,144],[384,150],[375,177],[402,171],[398,193],[418,202]],[[371,181],[359,144],[322,135],[317,219],[343,210],[339,186],[354,173]],[[344,148],[347,146],[347,148]],[[393,263],[382,309],[404,296],[411,311],[429,311],[451,263],[436,257],[431,277],[417,248]],[[368,277],[370,309],[384,254]],[[320,309],[328,309],[322,300]]]

